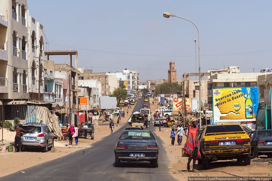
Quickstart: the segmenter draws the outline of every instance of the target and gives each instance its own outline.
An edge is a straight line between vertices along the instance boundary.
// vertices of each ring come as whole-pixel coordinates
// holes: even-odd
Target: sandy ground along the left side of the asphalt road
[[[129,110],[129,115],[131,114],[134,105],[131,106]],[[126,113],[127,107],[123,109]],[[117,117],[114,119],[114,123],[116,123]],[[121,118],[121,122],[119,126],[121,127],[123,124],[127,122],[129,116],[127,113],[125,114],[125,118]],[[75,141],[73,140],[73,145],[68,145],[69,141],[57,141],[55,140],[55,149],[56,152],[47,153],[41,152],[39,149],[27,149],[23,153],[14,153],[14,152],[0,152],[0,177],[5,175],[12,174],[19,170],[29,168],[31,166],[38,165],[40,163],[44,163],[46,161],[54,160],[56,158],[60,158],[62,156],[68,155],[69,153],[73,153],[77,150],[92,147],[94,142],[97,142],[104,137],[111,134],[111,129],[109,128],[109,122],[107,121],[106,124],[108,125],[95,125],[95,138],[91,140],[91,137],[87,137],[87,139],[79,138],[78,145],[75,145]],[[113,132],[119,129],[117,125],[114,127]],[[8,144],[9,142],[14,142],[15,132],[9,132],[8,130],[4,129],[4,143]],[[0,129],[0,137],[2,138],[2,129]],[[1,145],[2,142],[0,142]],[[3,146],[0,146],[1,148]]]

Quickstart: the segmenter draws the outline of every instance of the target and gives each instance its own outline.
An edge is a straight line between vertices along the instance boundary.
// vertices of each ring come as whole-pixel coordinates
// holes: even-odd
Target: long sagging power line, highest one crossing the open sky
[[[91,50],[91,49],[84,49],[84,48],[77,48],[77,47],[69,47],[69,46],[59,45],[59,44],[54,44],[54,43],[49,43],[49,42],[48,42],[48,44],[57,45],[57,46],[61,46],[61,47],[80,49],[80,50],[87,50],[87,51],[92,51],[92,52],[101,52],[101,53],[110,53],[110,54],[119,54],[119,55],[136,55],[136,56],[149,56],[149,57],[195,57],[195,55],[143,55],[143,54],[106,52],[106,51],[100,51],[100,50]],[[218,55],[200,55],[200,56],[201,57],[208,57],[208,56],[223,56],[223,55],[241,55],[241,54],[269,52],[269,51],[272,51],[272,50],[261,50],[261,51],[255,51],[255,52],[242,52],[242,53],[230,53],[230,54],[218,54]]]

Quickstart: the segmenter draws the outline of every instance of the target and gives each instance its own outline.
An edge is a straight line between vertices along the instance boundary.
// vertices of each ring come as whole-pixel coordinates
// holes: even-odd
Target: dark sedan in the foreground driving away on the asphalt
[[[121,161],[150,161],[158,167],[159,146],[151,131],[125,130],[115,144],[115,166]]]

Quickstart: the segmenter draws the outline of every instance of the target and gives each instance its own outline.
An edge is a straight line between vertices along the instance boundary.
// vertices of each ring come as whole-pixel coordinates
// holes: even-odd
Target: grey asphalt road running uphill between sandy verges
[[[141,98],[133,111],[139,111],[143,103]],[[114,145],[127,126],[125,124],[108,137],[95,142],[91,148],[24,169],[24,174],[19,171],[1,177],[0,180],[175,180],[168,172],[169,162],[159,137],[156,137],[160,147],[158,168],[152,168],[149,162],[122,162],[121,167],[114,167]],[[148,129],[154,131],[153,126]],[[82,151],[85,151],[83,155]]]

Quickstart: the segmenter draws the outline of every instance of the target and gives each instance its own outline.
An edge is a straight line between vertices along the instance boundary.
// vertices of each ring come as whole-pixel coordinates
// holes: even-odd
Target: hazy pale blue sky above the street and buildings
[[[198,49],[199,40],[195,26],[177,17],[165,18],[164,12],[197,25],[201,72],[236,65],[241,72],[272,68],[272,1],[28,0],[27,3],[29,14],[44,25],[48,41],[44,49],[75,49],[79,68],[93,72],[114,73],[127,68],[137,70],[140,81],[167,79],[171,60],[175,62],[178,81],[183,73],[196,72],[196,64],[198,72],[195,48]],[[50,60],[68,63],[68,56],[51,56]]]

